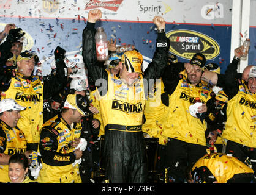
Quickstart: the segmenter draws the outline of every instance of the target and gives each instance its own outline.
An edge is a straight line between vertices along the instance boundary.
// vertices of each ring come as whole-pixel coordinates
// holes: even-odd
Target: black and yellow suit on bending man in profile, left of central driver
[[[74,138],[80,137],[81,128],[81,123],[70,127],[60,114],[43,124],[39,142],[43,167],[37,182],[81,183],[78,164],[72,165],[75,149],[70,146]]]

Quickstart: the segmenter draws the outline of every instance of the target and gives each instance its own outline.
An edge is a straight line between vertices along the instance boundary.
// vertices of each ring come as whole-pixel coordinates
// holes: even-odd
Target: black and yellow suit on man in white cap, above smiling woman
[[[18,127],[11,128],[0,121],[0,153],[13,155],[25,154],[27,141],[24,133]],[[0,182],[9,182],[8,165],[0,165]]]

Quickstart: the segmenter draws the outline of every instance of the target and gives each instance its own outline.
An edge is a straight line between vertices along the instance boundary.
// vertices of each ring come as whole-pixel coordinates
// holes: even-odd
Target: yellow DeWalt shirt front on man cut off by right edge
[[[241,80],[238,93],[227,103],[227,122],[222,137],[247,147],[256,147],[256,95]]]

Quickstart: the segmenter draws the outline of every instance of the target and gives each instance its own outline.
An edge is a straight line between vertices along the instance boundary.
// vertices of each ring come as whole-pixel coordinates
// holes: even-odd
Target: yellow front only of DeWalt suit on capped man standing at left
[[[39,129],[43,125],[43,84],[38,76],[31,80],[24,79],[23,74],[16,72],[10,87],[2,93],[1,99],[12,98],[26,110],[20,112],[17,126],[23,130],[28,143],[39,143]]]

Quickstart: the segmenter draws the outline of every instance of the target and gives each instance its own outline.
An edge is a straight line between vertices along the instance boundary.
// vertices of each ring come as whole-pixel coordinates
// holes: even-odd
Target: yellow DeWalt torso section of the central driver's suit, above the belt
[[[111,126],[111,130],[118,130],[116,125],[126,126],[126,132],[141,131],[145,95],[143,77],[140,74],[132,86],[126,85],[121,79],[108,70],[108,91],[99,96],[100,112],[104,129]],[[99,89],[97,89],[99,90]],[[97,91],[99,93],[99,91]]]

